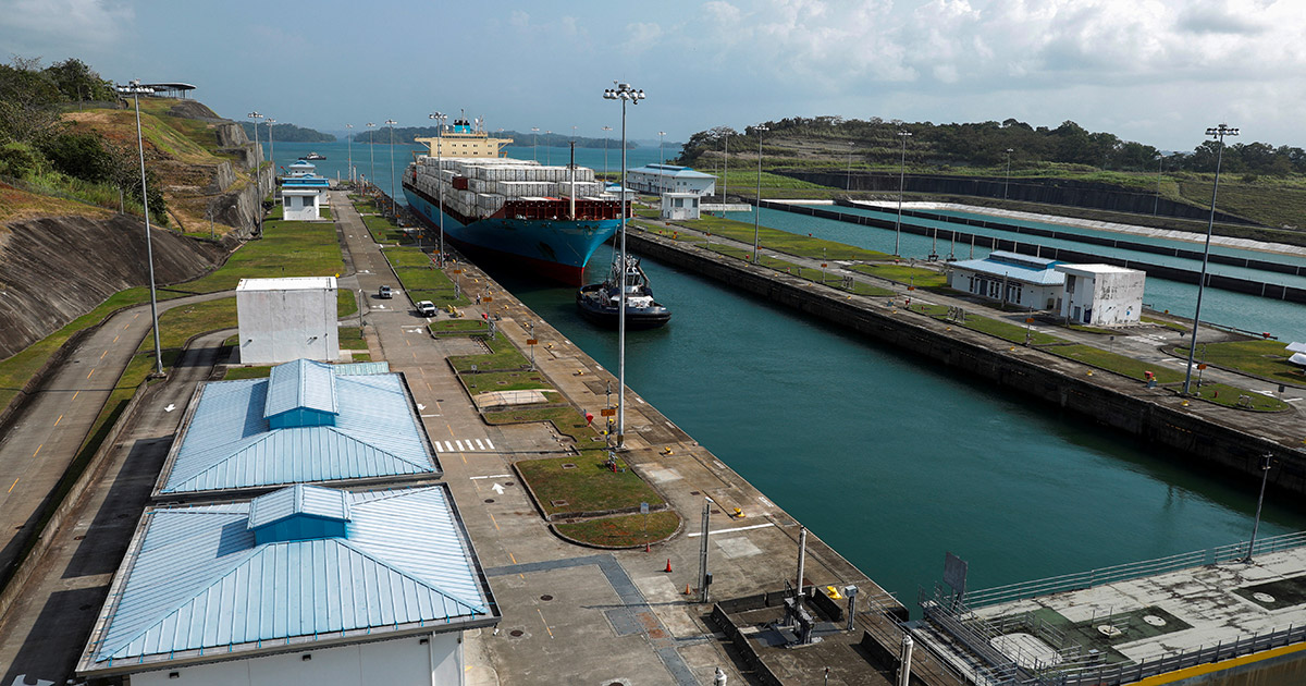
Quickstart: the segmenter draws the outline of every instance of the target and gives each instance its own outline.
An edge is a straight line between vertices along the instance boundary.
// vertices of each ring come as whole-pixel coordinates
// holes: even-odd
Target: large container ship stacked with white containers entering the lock
[[[409,208],[469,253],[520,263],[580,285],[590,255],[620,226],[622,201],[588,167],[500,157],[512,139],[491,139],[457,119],[404,171]],[[441,204],[443,200],[443,204]]]

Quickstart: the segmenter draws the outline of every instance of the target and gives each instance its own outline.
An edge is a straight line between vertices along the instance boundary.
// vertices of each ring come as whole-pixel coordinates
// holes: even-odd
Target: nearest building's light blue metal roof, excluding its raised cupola
[[[84,664],[496,617],[445,487],[341,493],[347,540],[255,544],[251,503],[148,511]]]

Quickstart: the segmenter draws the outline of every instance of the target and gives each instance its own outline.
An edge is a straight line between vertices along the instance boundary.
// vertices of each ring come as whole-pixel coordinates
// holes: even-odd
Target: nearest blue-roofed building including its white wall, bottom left
[[[132,686],[464,683],[500,612],[447,486],[145,511],[77,665]]]

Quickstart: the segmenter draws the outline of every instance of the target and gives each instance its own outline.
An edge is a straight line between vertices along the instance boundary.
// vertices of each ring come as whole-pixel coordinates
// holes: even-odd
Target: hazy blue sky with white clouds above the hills
[[[619,136],[620,80],[628,137],[667,141],[835,115],[1306,148],[1302,37],[1306,0],[0,0],[0,59],[195,84],[232,119]]]

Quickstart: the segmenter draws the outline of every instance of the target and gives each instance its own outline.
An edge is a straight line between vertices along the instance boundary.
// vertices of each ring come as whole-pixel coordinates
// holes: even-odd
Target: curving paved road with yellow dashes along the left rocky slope
[[[176,298],[161,302],[159,312],[230,297],[232,293]],[[149,332],[149,304],[111,316],[72,351],[0,438],[0,579],[9,576],[18,550],[37,533],[43,503]]]

